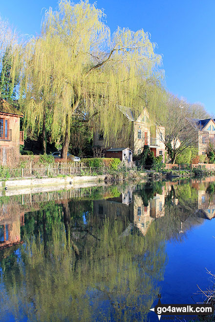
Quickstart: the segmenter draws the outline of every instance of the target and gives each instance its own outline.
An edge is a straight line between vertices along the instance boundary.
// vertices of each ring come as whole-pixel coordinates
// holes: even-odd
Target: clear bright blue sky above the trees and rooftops
[[[1,17],[31,35],[40,33],[42,8],[57,6],[57,0],[1,2]],[[97,7],[105,9],[111,31],[150,32],[163,55],[167,88],[215,114],[215,0],[97,0]]]

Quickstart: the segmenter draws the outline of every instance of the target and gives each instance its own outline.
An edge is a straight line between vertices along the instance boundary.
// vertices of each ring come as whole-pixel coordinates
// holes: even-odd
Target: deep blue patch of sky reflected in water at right
[[[202,297],[194,295],[199,289],[208,289],[213,284],[206,268],[215,273],[215,220],[205,220],[201,226],[196,226],[186,232],[186,238],[180,243],[168,242],[164,281],[160,282],[161,302],[194,303],[200,302]],[[192,296],[194,300],[192,299]],[[154,302],[157,304],[157,300]],[[150,321],[158,321],[152,312]]]

